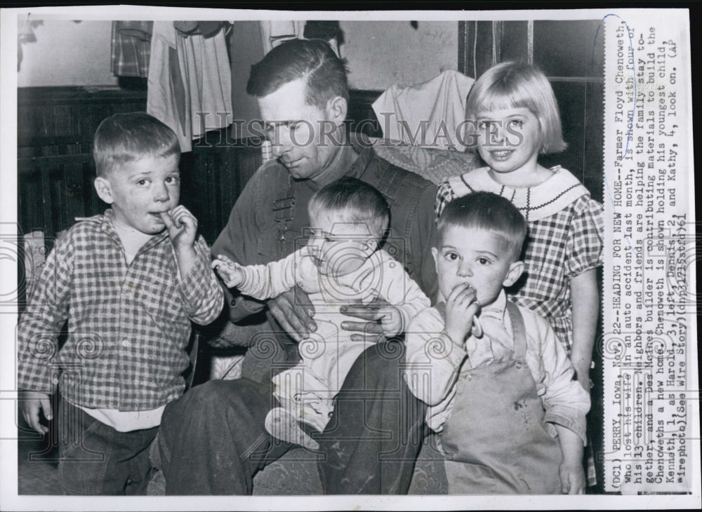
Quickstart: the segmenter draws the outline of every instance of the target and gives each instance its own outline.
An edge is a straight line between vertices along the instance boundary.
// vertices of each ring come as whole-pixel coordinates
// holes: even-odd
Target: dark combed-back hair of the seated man
[[[349,100],[347,67],[329,43],[320,39],[292,39],[276,46],[251,66],[246,93],[267,96],[297,79],[306,79],[305,102],[319,109],[331,98]]]

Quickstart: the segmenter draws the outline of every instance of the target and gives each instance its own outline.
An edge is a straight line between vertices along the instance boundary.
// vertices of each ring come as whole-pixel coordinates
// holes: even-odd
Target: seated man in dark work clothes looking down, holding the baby
[[[213,253],[241,265],[283,259],[310,226],[312,194],[341,177],[356,177],[378,189],[390,206],[383,248],[433,297],[436,187],[378,159],[370,147],[350,144],[344,122],[346,73],[324,41],[283,43],[251,67],[247,92],[258,98],[276,159],[246,184]],[[267,302],[227,291],[227,299],[229,323],[220,339],[250,346],[259,371],[207,382],[166,407],[159,447],[167,494],[251,494],[253,475],[296,446],[272,438],[265,418],[279,406],[272,377],[299,361],[296,344],[317,328],[309,299],[300,290]],[[358,331],[352,339],[375,341],[388,325],[383,319],[397,310],[373,302],[348,306],[346,313],[361,318],[341,325]],[[409,488],[425,406],[404,384],[403,358],[403,344],[383,341],[350,368],[329,424],[316,438],[327,494],[405,493]]]

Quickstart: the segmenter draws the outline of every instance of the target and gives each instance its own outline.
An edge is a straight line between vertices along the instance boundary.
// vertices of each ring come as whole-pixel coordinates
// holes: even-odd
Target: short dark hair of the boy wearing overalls
[[[527,238],[527,221],[509,199],[492,192],[472,192],[446,204],[437,222],[439,237],[447,227],[484,229],[500,234],[514,261],[522,255]]]

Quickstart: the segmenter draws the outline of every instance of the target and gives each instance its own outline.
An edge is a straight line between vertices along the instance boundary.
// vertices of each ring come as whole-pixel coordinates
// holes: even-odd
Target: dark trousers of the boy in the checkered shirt
[[[65,494],[146,494],[153,429],[119,432],[60,400],[58,478]]]

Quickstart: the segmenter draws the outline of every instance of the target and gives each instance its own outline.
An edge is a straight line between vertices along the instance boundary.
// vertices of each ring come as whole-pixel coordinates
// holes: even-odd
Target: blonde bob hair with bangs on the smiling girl
[[[521,62],[502,62],[484,72],[473,84],[465,103],[465,119],[475,121],[479,112],[527,108],[538,119],[539,154],[566,149],[556,97],[546,76],[537,67]],[[471,140],[477,141],[477,124],[468,123]],[[470,144],[475,151],[477,144]]]

